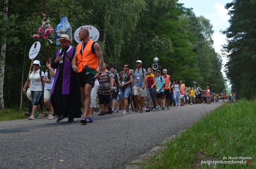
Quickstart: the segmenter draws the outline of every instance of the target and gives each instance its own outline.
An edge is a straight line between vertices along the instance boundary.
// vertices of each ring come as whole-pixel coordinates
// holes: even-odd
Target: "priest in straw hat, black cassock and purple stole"
[[[57,122],[69,117],[68,123],[74,118],[81,118],[81,96],[78,87],[77,73],[72,71],[72,59],[76,48],[70,46],[68,35],[61,35],[58,39],[61,49],[52,59],[51,67],[57,69],[51,91],[51,103],[55,114],[59,115]]]

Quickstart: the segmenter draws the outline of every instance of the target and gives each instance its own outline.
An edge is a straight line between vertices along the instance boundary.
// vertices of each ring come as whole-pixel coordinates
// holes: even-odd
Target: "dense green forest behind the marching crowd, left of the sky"
[[[253,9],[247,5],[241,12]],[[43,16],[33,14],[43,12],[43,0],[2,0],[0,7],[1,108],[19,107],[22,86],[31,65],[28,52],[36,41],[32,35],[38,33],[44,19]],[[57,11],[47,16],[53,28],[56,28],[62,17],[67,17],[73,33],[83,25],[97,28],[100,32],[97,42],[102,48],[104,61],[116,65],[118,71],[122,70],[121,65],[125,62],[135,67],[136,60],[141,60],[144,68],[152,67],[153,58],[158,57],[161,69],[167,69],[173,79],[182,79],[186,86],[193,85],[193,80],[196,80],[197,86],[202,89],[210,86],[214,92],[226,90],[221,73],[221,54],[213,48],[210,20],[195,16],[193,9],[185,8],[178,0],[46,0],[46,10]],[[251,26],[250,22],[245,24]],[[255,31],[253,33],[255,37]],[[53,41],[49,45],[50,57],[60,48]],[[255,45],[253,42],[250,44],[241,48],[248,52],[254,48],[254,63],[252,60],[249,62],[255,66]],[[74,39],[72,45],[77,45]],[[232,47],[226,46],[229,52]],[[35,59],[41,61],[40,69],[45,71],[46,51],[43,41]],[[243,68],[249,68],[245,64]],[[241,73],[238,75],[243,76]],[[231,83],[232,76],[228,74]],[[23,100],[27,100],[24,94]]]

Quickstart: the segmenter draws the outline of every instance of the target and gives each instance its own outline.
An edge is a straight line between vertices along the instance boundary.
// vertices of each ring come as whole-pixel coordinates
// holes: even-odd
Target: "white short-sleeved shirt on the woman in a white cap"
[[[31,91],[43,91],[43,85],[40,77],[40,69],[38,69],[35,73],[32,70],[32,73],[30,73],[29,79],[30,79],[30,90]],[[41,74],[42,77],[45,76],[45,73],[42,71]]]

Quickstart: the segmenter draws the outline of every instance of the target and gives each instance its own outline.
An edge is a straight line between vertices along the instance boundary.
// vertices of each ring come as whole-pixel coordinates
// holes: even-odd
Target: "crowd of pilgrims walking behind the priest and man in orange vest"
[[[38,63],[38,62],[35,62]],[[40,64],[40,62],[39,62]],[[137,61],[136,64],[142,64],[141,61]],[[33,115],[34,118],[42,118],[48,116],[48,119],[54,119],[54,109],[50,104],[50,90],[54,83],[54,75],[56,70],[51,68],[50,64],[46,64],[46,67],[51,72],[51,81],[48,84],[46,70],[43,83],[45,89],[44,103],[46,106],[46,113],[43,115],[43,103],[41,97],[39,99],[39,105],[41,113]],[[180,79],[172,80],[171,76],[167,75],[167,70],[163,69],[163,75],[160,70],[153,72],[152,68],[141,68],[137,66],[135,70],[130,69],[130,64],[124,64],[124,70],[117,72],[115,66],[109,66],[106,63],[103,65],[102,74],[100,79],[92,79],[94,81],[94,89],[91,92],[91,116],[94,116],[95,112],[99,112],[98,116],[104,116],[105,114],[112,114],[122,112],[122,114],[134,112],[150,112],[170,110],[170,107],[182,107],[194,104],[211,104],[212,102],[218,102],[219,99],[230,99],[224,93],[218,94],[211,92],[209,86],[205,90],[197,86],[187,87]],[[146,77],[145,81],[144,78]],[[139,81],[139,84],[136,83]],[[146,83],[146,84],[144,84]],[[29,85],[29,84],[28,84]],[[145,86],[145,89],[143,88]],[[134,88],[136,87],[136,92]],[[145,95],[143,95],[143,90]],[[236,94],[238,96],[238,94]],[[43,97],[43,96],[42,96]],[[238,96],[239,97],[239,96]],[[239,99],[239,98],[238,98]],[[29,101],[28,112],[24,113],[26,116],[30,116],[32,112],[32,104]],[[143,110],[144,109],[144,110]],[[50,110],[50,112],[49,112]],[[81,107],[82,114],[82,107]],[[58,116],[57,116],[58,117]]]

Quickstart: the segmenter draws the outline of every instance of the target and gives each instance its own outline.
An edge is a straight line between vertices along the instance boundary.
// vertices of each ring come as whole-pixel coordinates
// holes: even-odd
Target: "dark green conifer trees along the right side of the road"
[[[228,57],[226,75],[233,92],[247,99],[256,97],[256,1],[233,0],[226,4],[230,27],[223,31],[228,44],[223,46]]]

